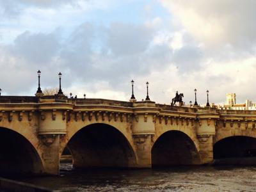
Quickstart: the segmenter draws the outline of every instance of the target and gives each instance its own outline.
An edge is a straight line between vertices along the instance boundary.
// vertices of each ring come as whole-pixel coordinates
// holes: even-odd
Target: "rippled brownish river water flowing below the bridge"
[[[256,166],[177,166],[146,170],[72,170],[16,179],[53,191],[256,191]]]

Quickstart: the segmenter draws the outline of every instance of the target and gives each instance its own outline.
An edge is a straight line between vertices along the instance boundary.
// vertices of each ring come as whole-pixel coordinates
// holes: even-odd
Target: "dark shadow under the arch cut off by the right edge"
[[[213,145],[214,159],[244,157],[256,158],[256,138],[250,136],[230,136],[217,141]],[[256,164],[256,161],[254,164]]]

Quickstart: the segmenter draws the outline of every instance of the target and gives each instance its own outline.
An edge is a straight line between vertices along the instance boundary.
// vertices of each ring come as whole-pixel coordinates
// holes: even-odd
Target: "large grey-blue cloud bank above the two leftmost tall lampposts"
[[[101,30],[100,30],[101,29]],[[98,82],[107,81],[112,89],[124,92],[125,81],[136,76],[148,74],[152,68],[163,67],[170,59],[171,49],[166,45],[152,46],[155,29],[144,24],[118,24],[99,26],[86,22],[78,26],[65,40],[61,39],[62,31],[52,33],[31,33],[25,31],[17,36],[13,45],[2,45],[6,60],[1,66],[22,67],[28,77],[33,71],[42,71],[42,86],[58,86],[56,73],[63,72],[63,86],[79,83],[91,91],[102,90],[95,86]],[[124,36],[122,36],[124,34]],[[8,68],[14,71],[15,68]],[[0,72],[0,75],[3,71]],[[36,82],[29,82],[26,77],[20,78],[28,87]],[[36,77],[34,77],[36,81]],[[55,82],[52,85],[52,82]],[[8,87],[6,82],[2,86]],[[17,84],[6,92],[22,92]]]

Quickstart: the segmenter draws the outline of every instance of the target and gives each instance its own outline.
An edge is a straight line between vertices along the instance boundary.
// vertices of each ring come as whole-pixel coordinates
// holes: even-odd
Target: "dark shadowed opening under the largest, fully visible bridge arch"
[[[129,168],[136,165],[136,156],[127,138],[108,124],[83,127],[66,147],[72,154],[74,168]]]

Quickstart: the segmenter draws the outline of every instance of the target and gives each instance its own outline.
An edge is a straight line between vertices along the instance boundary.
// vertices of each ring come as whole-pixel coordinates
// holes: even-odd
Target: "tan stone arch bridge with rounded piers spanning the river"
[[[256,111],[152,101],[0,97],[0,172],[58,175],[75,168],[207,164],[256,153]]]

